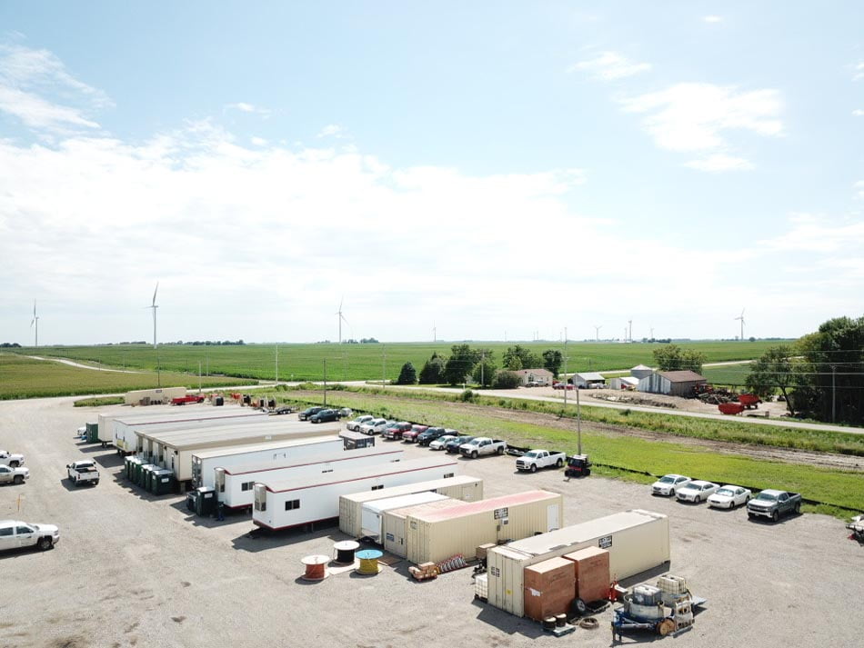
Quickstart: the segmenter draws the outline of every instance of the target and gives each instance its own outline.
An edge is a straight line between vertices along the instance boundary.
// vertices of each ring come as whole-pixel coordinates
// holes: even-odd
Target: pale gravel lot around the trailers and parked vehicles
[[[336,526],[316,533],[250,539],[246,516],[224,523],[186,512],[179,495],[155,498],[116,478],[113,450],[72,434],[97,411],[71,398],[0,403],[0,447],[26,456],[28,483],[0,487],[0,517],[56,523],[61,542],[46,553],[0,555],[0,646],[608,646],[610,613],[598,630],[555,638],[539,626],[473,600],[471,570],[416,583],[407,563],[375,577],[342,573],[305,583],[299,560],[331,553],[346,539]],[[385,444],[385,442],[379,442]],[[407,457],[425,448],[402,444]],[[95,488],[75,489],[65,464],[102,466]],[[544,488],[565,493],[564,523],[628,508],[667,513],[671,573],[708,597],[694,628],[661,641],[678,646],[861,645],[864,547],[843,523],[806,514],[751,523],[653,498],[645,486],[560,472],[516,474],[513,457],[460,460],[483,477],[487,496]],[[21,512],[16,511],[20,502]],[[655,575],[656,577],[656,575]],[[632,584],[632,583],[628,583]],[[857,619],[857,621],[856,621]],[[651,642],[652,635],[624,643]]]

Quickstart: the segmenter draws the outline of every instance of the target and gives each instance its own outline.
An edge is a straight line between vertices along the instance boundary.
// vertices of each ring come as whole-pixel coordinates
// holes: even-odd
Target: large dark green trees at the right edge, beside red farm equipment
[[[779,344],[750,365],[754,394],[779,392],[790,414],[864,424],[864,317],[837,317],[794,344]]]

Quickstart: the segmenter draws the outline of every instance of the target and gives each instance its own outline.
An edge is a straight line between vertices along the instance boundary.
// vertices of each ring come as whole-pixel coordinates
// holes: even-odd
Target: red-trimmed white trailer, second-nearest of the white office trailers
[[[309,439],[316,441],[316,439]],[[338,437],[337,437],[338,441]],[[314,449],[316,444],[296,446],[297,450]],[[256,483],[285,482],[322,474],[359,470],[368,466],[379,466],[402,459],[402,451],[396,448],[360,448],[357,450],[331,450],[327,453],[293,456],[282,461],[218,467],[214,471],[216,497],[228,508],[251,508],[253,487]]]

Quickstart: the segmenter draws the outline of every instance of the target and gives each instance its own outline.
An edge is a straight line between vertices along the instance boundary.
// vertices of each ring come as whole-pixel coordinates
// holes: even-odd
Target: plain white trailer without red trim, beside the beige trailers
[[[198,450],[192,454],[192,485],[215,487],[216,468],[239,465],[286,462],[314,454],[338,454],[345,449],[345,440],[338,436],[268,441],[264,444],[234,445],[214,450]]]

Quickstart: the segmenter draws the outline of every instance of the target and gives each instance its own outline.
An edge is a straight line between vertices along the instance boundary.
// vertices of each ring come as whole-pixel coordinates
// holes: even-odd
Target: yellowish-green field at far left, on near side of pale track
[[[18,354],[0,354],[0,400],[75,394],[110,394],[156,387],[156,374],[94,371],[51,360],[32,360]],[[236,384],[236,378],[205,378],[205,386]],[[197,388],[198,377],[162,372],[163,386]]]

